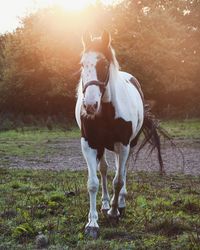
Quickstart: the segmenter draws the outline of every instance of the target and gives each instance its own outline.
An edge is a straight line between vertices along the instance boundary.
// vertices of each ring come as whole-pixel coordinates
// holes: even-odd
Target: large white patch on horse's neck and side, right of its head
[[[119,71],[113,63],[110,65],[109,75],[109,84],[105,93],[110,93],[110,98],[107,97],[107,99],[110,99],[115,107],[116,119],[122,118],[125,121],[132,122],[132,140],[139,132],[143,123],[144,107],[140,93],[130,82],[132,75]]]

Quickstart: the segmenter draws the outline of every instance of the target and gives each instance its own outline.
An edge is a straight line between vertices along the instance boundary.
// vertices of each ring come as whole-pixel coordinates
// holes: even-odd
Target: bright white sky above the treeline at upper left
[[[102,0],[113,4],[117,0]],[[20,26],[20,17],[50,5],[59,5],[67,10],[76,11],[94,3],[95,0],[0,0],[0,34],[10,32]]]

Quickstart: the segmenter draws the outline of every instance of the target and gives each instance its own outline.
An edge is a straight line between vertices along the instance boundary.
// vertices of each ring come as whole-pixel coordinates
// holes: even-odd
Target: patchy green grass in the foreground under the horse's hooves
[[[39,234],[48,249],[199,249],[200,177],[129,173],[126,215],[113,227],[99,212],[97,241],[84,235],[86,183],[86,172],[0,169],[0,249],[36,249]]]

